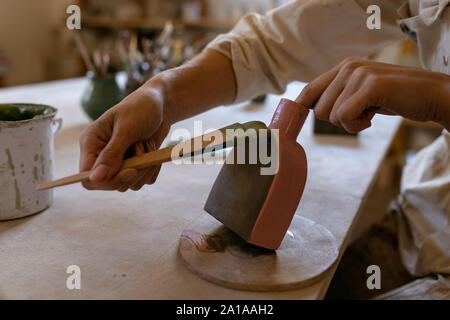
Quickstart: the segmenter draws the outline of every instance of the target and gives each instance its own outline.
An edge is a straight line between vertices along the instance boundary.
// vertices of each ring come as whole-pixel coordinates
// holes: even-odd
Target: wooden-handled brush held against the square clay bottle
[[[242,129],[242,132],[244,132],[248,127],[255,126],[255,123],[258,124],[260,122],[247,122],[244,124],[235,123],[233,125],[215,130],[213,132],[195,137],[191,140],[181,142],[173,146],[125,159],[120,170],[129,168],[144,169],[152,166],[158,166],[165,162],[178,160],[184,157],[191,157],[199,153],[208,153],[211,151],[217,151],[220,149],[231,147],[234,145],[236,140],[243,137],[239,135],[227,135],[228,130],[235,131],[236,129]],[[264,124],[262,123],[262,125]],[[239,131],[235,132],[239,133]],[[179,150],[176,156],[174,156],[174,152],[177,152],[176,150],[174,151],[175,148]],[[89,180],[90,174],[91,171],[84,171],[55,181],[44,182],[39,184],[37,186],[37,189],[46,190],[77,182],[87,181]]]

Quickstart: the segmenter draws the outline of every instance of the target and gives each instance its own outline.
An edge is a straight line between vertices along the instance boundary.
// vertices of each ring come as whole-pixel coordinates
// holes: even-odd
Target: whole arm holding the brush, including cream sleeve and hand
[[[126,150],[159,148],[171,124],[214,106],[310,80],[349,55],[367,55],[402,36],[395,9],[404,0],[296,0],[267,17],[248,15],[186,65],[150,80],[89,126],[80,139],[88,189],[138,190],[159,168],[118,172]],[[366,28],[366,8],[383,9],[382,30]],[[349,37],[352,35],[352,37]],[[212,50],[213,49],[213,50]]]

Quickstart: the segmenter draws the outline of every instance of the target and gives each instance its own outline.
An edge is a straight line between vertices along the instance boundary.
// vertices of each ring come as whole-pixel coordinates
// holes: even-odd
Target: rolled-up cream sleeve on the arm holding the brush
[[[346,57],[365,57],[403,37],[397,9],[405,0],[296,0],[249,14],[209,45],[232,60],[235,102],[283,93],[294,80],[310,81]],[[370,5],[381,8],[381,29],[369,30]]]

